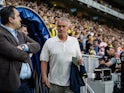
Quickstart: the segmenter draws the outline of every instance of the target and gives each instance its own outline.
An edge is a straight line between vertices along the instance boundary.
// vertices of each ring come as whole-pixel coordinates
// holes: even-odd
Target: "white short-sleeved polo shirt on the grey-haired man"
[[[42,49],[40,60],[50,63],[48,79],[50,83],[69,86],[72,57],[82,58],[78,40],[68,36],[65,42],[56,36],[48,39]]]

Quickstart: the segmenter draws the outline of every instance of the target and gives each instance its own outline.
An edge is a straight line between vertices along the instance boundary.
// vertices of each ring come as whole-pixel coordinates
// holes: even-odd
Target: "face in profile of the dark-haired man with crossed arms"
[[[21,27],[21,18],[19,12],[16,9],[14,9],[14,13],[15,13],[15,18],[12,21],[12,25],[14,29],[18,29]]]

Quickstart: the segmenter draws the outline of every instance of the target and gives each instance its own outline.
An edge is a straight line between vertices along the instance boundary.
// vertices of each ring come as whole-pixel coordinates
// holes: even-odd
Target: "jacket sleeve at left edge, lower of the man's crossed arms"
[[[18,49],[10,43],[6,36],[0,33],[0,55],[9,60],[24,61],[28,58],[28,53]]]

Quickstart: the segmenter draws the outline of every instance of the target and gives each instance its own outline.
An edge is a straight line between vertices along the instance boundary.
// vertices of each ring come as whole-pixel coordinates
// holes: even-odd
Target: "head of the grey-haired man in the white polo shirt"
[[[57,23],[57,29],[58,36],[65,36],[69,30],[69,23],[66,20],[59,20]]]

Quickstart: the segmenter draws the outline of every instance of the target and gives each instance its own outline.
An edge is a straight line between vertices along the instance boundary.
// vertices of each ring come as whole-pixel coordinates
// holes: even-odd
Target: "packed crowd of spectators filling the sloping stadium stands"
[[[106,25],[100,25],[97,22],[78,18],[70,15],[61,9],[49,7],[45,3],[37,4],[37,2],[29,2],[24,0],[6,0],[7,5],[23,5],[30,7],[37,12],[44,20],[49,29],[51,37],[57,34],[56,22],[60,17],[70,19],[72,25],[68,34],[79,40],[82,53],[89,55],[104,56],[106,47],[114,47],[116,49],[116,57],[124,51],[124,31],[117,28],[110,28]]]

